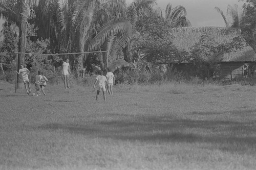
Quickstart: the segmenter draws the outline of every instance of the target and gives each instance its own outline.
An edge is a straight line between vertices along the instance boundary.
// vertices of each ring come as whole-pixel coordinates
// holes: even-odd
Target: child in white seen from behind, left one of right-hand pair
[[[99,96],[99,92],[102,90],[103,92],[103,99],[104,101],[106,100],[106,96],[105,96],[105,93],[106,93],[106,84],[107,84],[107,81],[106,81],[106,77],[103,76],[103,71],[99,70],[98,72],[96,72],[96,80],[94,82],[94,85],[93,85],[93,88],[97,90],[97,93],[96,93],[96,101],[98,100],[98,96]]]

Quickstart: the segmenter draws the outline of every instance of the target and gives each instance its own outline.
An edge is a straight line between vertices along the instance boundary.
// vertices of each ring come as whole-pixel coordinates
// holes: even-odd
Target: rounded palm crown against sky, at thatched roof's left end
[[[190,21],[186,18],[186,9],[183,6],[172,7],[172,4],[167,4],[165,9],[165,19],[170,27],[191,27]]]

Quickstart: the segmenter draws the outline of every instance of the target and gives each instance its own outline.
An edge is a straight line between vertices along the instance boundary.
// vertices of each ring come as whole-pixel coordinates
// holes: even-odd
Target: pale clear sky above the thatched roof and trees
[[[133,0],[126,0],[127,4],[131,4]],[[157,6],[161,8],[163,14],[167,4],[173,7],[181,5],[187,11],[187,18],[191,22],[192,27],[216,26],[225,27],[224,20],[220,13],[214,8],[219,7],[224,14],[227,12],[227,6],[237,4],[242,9],[244,2],[239,0],[158,0]]]

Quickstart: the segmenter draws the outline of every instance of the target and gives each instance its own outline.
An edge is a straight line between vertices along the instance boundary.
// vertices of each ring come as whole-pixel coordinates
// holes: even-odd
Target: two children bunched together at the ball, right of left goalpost
[[[40,95],[40,89],[42,91],[42,93],[44,95],[46,95],[45,93],[45,87],[46,87],[46,82],[48,81],[48,79],[45,76],[42,76],[42,72],[38,71],[38,74],[35,77],[35,89],[36,89],[36,93],[33,93],[33,96],[38,96]]]

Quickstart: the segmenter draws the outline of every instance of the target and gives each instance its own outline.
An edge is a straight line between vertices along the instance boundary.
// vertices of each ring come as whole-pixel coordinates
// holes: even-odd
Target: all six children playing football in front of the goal
[[[66,62],[68,63],[68,59],[66,60]],[[67,68],[63,66],[62,74],[64,77],[65,88],[67,89],[67,88],[70,88],[69,83],[68,83],[68,78],[69,78],[68,76],[69,76],[70,68],[68,68],[69,67],[68,64],[66,64],[66,65],[67,65],[66,66]],[[66,73],[63,71],[66,71]],[[107,71],[108,71],[108,73],[106,74],[106,76],[103,76],[103,71],[101,71],[101,70],[96,71],[97,76],[96,76],[96,80],[93,85],[93,88],[97,90],[96,100],[98,100],[100,91],[103,92],[104,101],[106,100],[106,96],[105,96],[106,90],[108,90],[110,95],[113,95],[113,84],[115,84],[115,76],[114,76],[113,72],[111,72],[110,68],[107,68]],[[31,88],[30,88],[30,82],[29,82],[29,77],[28,77],[29,73],[30,73],[30,71],[26,67],[24,67],[23,65],[20,65],[20,69],[17,72],[17,74],[20,75],[20,78],[23,80],[27,93],[29,95],[31,95]],[[46,84],[47,84],[46,82],[48,81],[48,79],[42,74],[42,72],[40,70],[38,71],[38,74],[36,75],[35,79],[36,79],[35,80],[36,92],[32,93],[32,95],[33,96],[40,95],[40,90],[42,91],[42,93],[44,95],[46,95],[44,89],[46,87]]]

